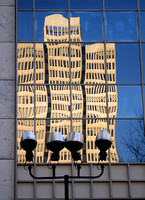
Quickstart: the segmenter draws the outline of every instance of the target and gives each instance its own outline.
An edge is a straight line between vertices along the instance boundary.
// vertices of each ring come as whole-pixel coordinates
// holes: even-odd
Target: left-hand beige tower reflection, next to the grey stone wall
[[[24,131],[34,132],[34,46],[32,43],[19,43],[17,46],[17,117],[27,118],[18,120],[17,125],[17,158],[18,163],[25,162],[25,151],[20,147],[21,136]],[[43,44],[35,44],[35,83],[45,83],[45,62]],[[47,116],[46,86],[35,86],[36,118]],[[43,162],[45,149],[46,121],[36,120],[36,161]]]

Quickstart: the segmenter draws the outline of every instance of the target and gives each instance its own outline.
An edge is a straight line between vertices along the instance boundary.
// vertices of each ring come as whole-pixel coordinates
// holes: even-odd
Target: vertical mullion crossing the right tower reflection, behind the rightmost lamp
[[[104,31],[104,58],[105,58],[105,75],[106,75],[106,107],[107,107],[107,131],[109,131],[109,113],[108,113],[108,82],[107,82],[107,61],[106,61],[106,29],[105,29],[105,0],[103,0],[103,31]],[[112,198],[112,176],[111,176],[111,161],[110,149],[109,153],[109,180],[110,180],[110,198]]]

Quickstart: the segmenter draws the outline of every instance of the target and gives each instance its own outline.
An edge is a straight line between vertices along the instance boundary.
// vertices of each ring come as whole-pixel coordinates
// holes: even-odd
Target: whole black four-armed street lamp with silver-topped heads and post
[[[98,133],[96,137],[95,144],[99,148],[100,160],[106,160],[106,151],[111,147],[110,134],[106,130],[102,130]],[[36,148],[37,141],[34,134],[31,131],[25,131],[21,138],[21,147],[26,151],[26,162],[33,161],[32,151]],[[83,135],[79,132],[70,132],[66,139],[64,140],[60,132],[49,133],[46,137],[46,146],[53,153],[51,155],[51,161],[59,160],[59,151],[66,147],[72,155],[74,161],[81,160],[80,153],[78,152],[83,148]],[[53,176],[52,177],[36,177],[32,174],[32,164],[28,165],[29,174],[34,179],[63,179],[64,180],[64,191],[65,191],[65,200],[69,199],[69,179],[97,179],[101,177],[104,173],[104,164],[101,164],[101,172],[97,176],[81,176],[80,170],[81,165],[77,164],[77,176],[56,176],[55,169],[56,165],[52,165]]]

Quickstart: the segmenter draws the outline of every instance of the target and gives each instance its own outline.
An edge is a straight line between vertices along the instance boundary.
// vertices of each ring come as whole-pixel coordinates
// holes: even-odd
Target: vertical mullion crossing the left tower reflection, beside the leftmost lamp
[[[33,44],[34,44],[34,135],[36,137],[36,83],[35,83],[35,0],[33,0]],[[36,148],[34,150],[34,175],[36,174]],[[36,199],[36,179],[34,181],[33,198]]]

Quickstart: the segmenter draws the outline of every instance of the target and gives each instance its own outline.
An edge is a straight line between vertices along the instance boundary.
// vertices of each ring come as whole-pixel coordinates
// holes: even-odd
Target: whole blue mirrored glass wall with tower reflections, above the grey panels
[[[99,162],[95,138],[108,130],[107,161],[145,161],[145,2],[17,0],[17,162],[21,136],[37,139],[49,163],[49,132],[81,132],[82,162]],[[67,149],[60,163],[71,163]]]

